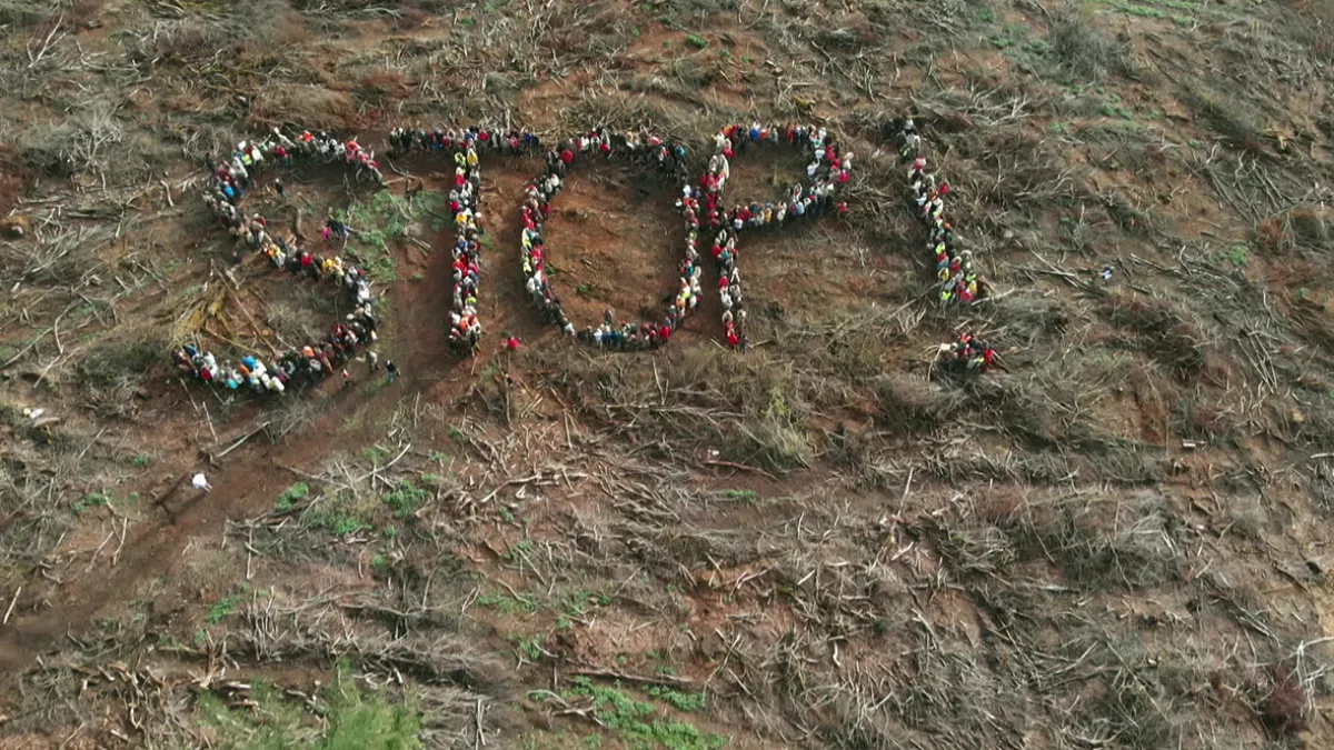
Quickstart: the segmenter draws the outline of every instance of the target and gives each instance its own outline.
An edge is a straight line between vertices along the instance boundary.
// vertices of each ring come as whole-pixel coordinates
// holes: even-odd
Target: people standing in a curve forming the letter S
[[[296,278],[338,284],[354,311],[346,320],[334,324],[324,340],[292,348],[276,360],[264,362],[247,355],[236,363],[220,362],[211,351],[187,343],[172,352],[172,363],[180,372],[228,390],[281,394],[289,387],[332,375],[335,368],[375,343],[379,318],[367,272],[338,254],[324,256],[299,247],[293,235],[279,236],[269,230],[263,215],[247,215],[240,208],[241,198],[257,185],[260,172],[271,165],[293,164],[343,164],[354,169],[358,179],[370,177],[375,184],[383,184],[375,153],[362,148],[356,139],[340,141],[323,132],[304,131],[293,140],[273,128],[271,137],[241,141],[228,159],[219,161],[204,191],[204,203],[239,246],[261,254],[275,268]],[[275,180],[273,188],[279,195],[285,194],[281,180]],[[320,235],[329,242],[334,236],[347,239],[354,231],[331,214]],[[378,354],[367,352],[367,362],[374,370]],[[350,380],[347,370],[343,370],[343,379]]]

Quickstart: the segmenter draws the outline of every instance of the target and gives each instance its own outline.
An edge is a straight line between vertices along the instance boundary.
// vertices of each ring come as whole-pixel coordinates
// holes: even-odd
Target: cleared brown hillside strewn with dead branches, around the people
[[[217,746],[200,695],[241,715],[256,681],[313,726],[339,659],[430,747],[1330,746],[1331,20],[0,0],[0,211],[24,230],[0,236],[0,747]],[[906,112],[984,304],[934,303]],[[412,156],[386,196],[309,169],[251,199],[387,234],[352,250],[392,271],[400,380],[358,362],[355,387],[263,402],[165,367],[185,338],[271,351],[346,312],[233,264],[205,219],[203,167],[240,137],[607,125],[703,168],[755,119],[818,120],[858,165],[847,219],[743,239],[746,354],[716,300],[651,354],[558,336],[518,268],[540,160],[495,157],[488,336],[458,358],[450,168]],[[728,200],[802,161],[742,155]],[[576,319],[660,307],[671,194],[576,171],[547,238]],[[931,363],[964,330],[1002,352],[976,380]]]

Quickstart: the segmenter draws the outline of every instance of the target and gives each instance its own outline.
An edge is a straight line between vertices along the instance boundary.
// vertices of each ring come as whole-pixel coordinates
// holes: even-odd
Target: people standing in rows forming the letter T
[[[478,203],[482,192],[482,153],[520,155],[540,145],[542,139],[527,129],[395,128],[390,132],[392,155],[450,153],[454,157],[450,212],[454,215],[458,238],[451,247],[454,302],[450,311],[450,344],[456,350],[472,352],[482,340],[482,320],[478,318],[482,246],[486,235]]]

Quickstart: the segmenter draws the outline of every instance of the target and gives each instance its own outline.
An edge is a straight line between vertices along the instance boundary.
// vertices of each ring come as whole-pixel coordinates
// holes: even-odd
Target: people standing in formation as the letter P
[[[732,157],[764,144],[788,144],[808,151],[811,163],[806,167],[806,181],[794,184],[788,195],[776,202],[734,204],[730,211],[723,208]],[[847,183],[851,168],[852,152],[842,151],[832,133],[814,125],[730,124],[714,136],[708,168],[700,176],[698,188],[686,188],[682,204],[691,247],[698,242],[700,215],[712,232],[711,251],[718,266],[718,295],[728,346],[746,348],[746,306],[736,263],[736,238],[743,231],[846,214],[847,204],[839,202],[836,194]]]

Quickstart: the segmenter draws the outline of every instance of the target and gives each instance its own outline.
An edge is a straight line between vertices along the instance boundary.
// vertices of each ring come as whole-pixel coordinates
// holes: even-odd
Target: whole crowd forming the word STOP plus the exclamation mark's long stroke
[[[916,157],[920,137],[911,127],[911,120],[904,133],[903,153],[911,151],[912,157]],[[451,248],[454,300],[450,340],[460,350],[472,351],[482,338],[482,323],[478,316],[480,251],[484,244],[479,211],[480,161],[487,153],[523,155],[539,151],[544,144],[536,133],[527,129],[500,131],[479,127],[430,131],[396,128],[390,132],[388,140],[390,152],[394,155],[443,152],[455,161],[450,210],[458,238]],[[806,169],[806,181],[794,185],[791,194],[776,204],[756,202],[726,210],[723,195],[735,153],[748,147],[776,143],[810,151],[812,159]],[[912,145],[914,143],[916,145]],[[732,124],[716,133],[715,153],[710,157],[698,185],[692,185],[687,175],[684,145],[642,133],[598,128],[550,147],[546,156],[546,169],[528,185],[520,210],[522,263],[527,290],[543,314],[563,334],[594,346],[631,351],[662,346],[680,322],[698,308],[703,294],[703,270],[699,262],[702,227],[711,235],[711,251],[719,271],[719,298],[727,342],[731,347],[744,348],[746,308],[738,268],[738,236],[743,231],[779,226],[807,216],[846,212],[847,206],[839,203],[835,194],[839,185],[848,180],[852,163],[852,153],[842,152],[834,136],[824,128],[759,123],[748,128]],[[612,312],[606,311],[600,324],[579,330],[570,322],[547,278],[543,223],[551,215],[551,200],[562,190],[568,169],[576,160],[598,156],[619,157],[634,164],[654,167],[682,188],[676,208],[686,224],[686,254],[678,268],[679,288],[662,322],[618,323]],[[954,248],[952,234],[948,224],[939,220],[939,199],[947,192],[947,185],[936,187],[934,177],[924,173],[924,161],[916,159],[911,173],[914,185],[928,184],[930,192],[928,199],[924,203],[919,202],[919,206],[924,206],[923,216],[936,220],[938,231],[932,234],[932,243],[940,244],[950,252]],[[325,340],[297,347],[268,362],[253,355],[244,356],[235,364],[228,360],[219,362],[212,352],[201,350],[195,343],[187,343],[172,352],[172,360],[180,371],[229,390],[244,387],[263,392],[283,392],[288,387],[334,374],[356,356],[359,350],[375,342],[378,323],[375,298],[371,294],[371,279],[363,268],[338,254],[323,255],[301,248],[291,234],[279,236],[263,215],[247,215],[240,208],[243,196],[256,188],[260,172],[272,165],[305,164],[343,164],[354,169],[358,180],[370,179],[376,185],[383,185],[384,181],[375,153],[363,148],[355,137],[343,141],[328,133],[311,131],[289,137],[281,129],[273,128],[272,135],[264,140],[241,141],[227,159],[216,164],[211,184],[204,191],[204,203],[217,222],[236,238],[239,247],[261,254],[276,268],[285,270],[293,276],[339,284],[355,312],[335,324]],[[285,196],[280,179],[272,181],[272,188],[279,196]],[[335,239],[346,240],[355,232],[356,230],[346,219],[334,212],[320,230],[325,243],[332,243]],[[239,258],[240,251],[237,251]],[[975,282],[971,278],[967,254],[959,254],[958,258],[956,263],[947,264],[946,268],[951,279],[955,271],[963,274],[960,279],[966,283],[954,294],[967,299],[970,294],[967,284]],[[959,282],[950,283],[951,290],[958,287]],[[975,295],[975,291],[972,294]],[[378,355],[367,352],[366,359],[374,368]],[[342,374],[344,382],[350,382],[347,371],[343,370]]]

